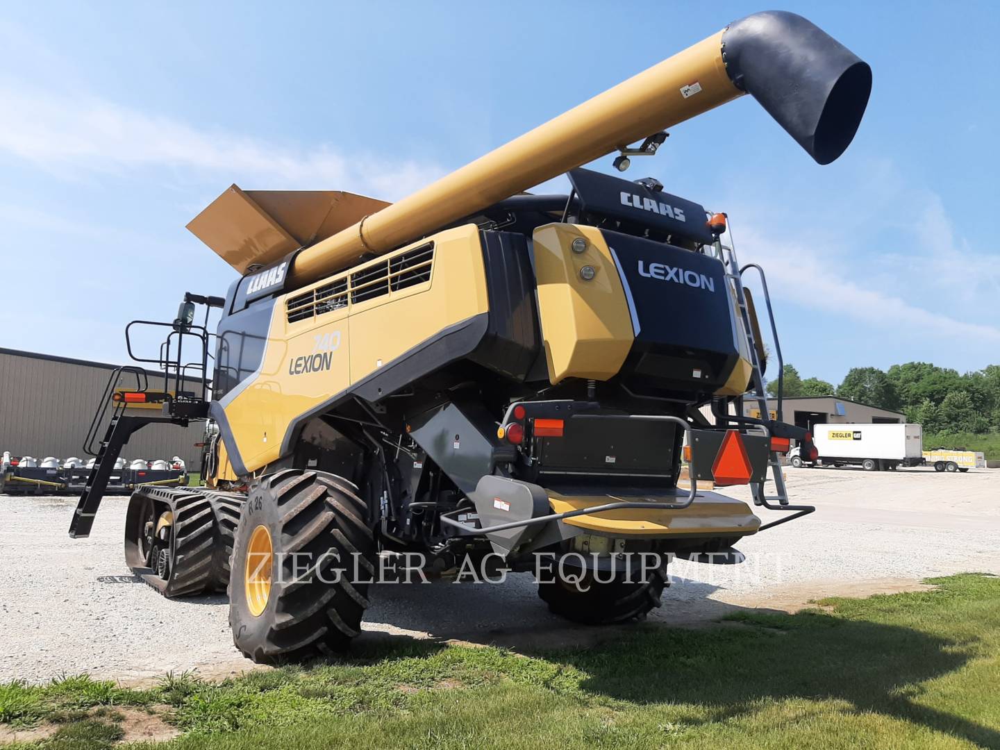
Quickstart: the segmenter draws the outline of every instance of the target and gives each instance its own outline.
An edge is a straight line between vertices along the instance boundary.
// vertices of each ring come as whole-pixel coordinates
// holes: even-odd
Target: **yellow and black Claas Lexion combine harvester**
[[[137,491],[125,556],[166,596],[228,587],[255,661],[346,646],[380,553],[438,569],[493,555],[541,571],[541,598],[572,620],[645,615],[672,554],[729,550],[813,510],[789,502],[779,466],[791,440],[811,446],[780,401],[777,420],[732,416],[747,395],[767,414],[742,279],[763,273],[723,243],[725,215],[580,167],[607,154],[627,167],[665,128],[747,93],[828,164],[870,89],[868,65],[809,21],[759,13],[395,204],[231,187],[189,228],[240,278],[225,298],[186,295],[173,322],[130,324],[167,333],[139,359],[166,382],[123,396],[163,409],[115,412],[71,536],[90,532],[132,432],[207,420],[207,487]],[[569,195],[524,192],[564,173]],[[775,354],[780,372],[776,336]],[[211,400],[185,391],[199,370]],[[692,477],[750,484],[778,520],[678,488],[688,449]],[[639,553],[655,564],[615,567]]]

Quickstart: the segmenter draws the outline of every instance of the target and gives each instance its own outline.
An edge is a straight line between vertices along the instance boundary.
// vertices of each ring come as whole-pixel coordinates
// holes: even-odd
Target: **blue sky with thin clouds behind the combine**
[[[0,346],[125,361],[126,321],[232,280],[184,229],[230,183],[398,199],[764,7],[283,5],[5,7]],[[847,153],[744,97],[628,175],[730,214],[803,376],[1000,363],[1000,6],[783,7],[874,70]]]

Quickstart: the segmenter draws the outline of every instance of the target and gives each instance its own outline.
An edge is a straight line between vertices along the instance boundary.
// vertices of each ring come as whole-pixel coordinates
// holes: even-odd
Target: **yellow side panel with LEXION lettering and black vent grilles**
[[[281,457],[281,444],[297,417],[448,326],[488,312],[479,232],[469,224],[435,235],[431,278],[380,297],[289,323],[286,301],[346,274],[323,279],[275,300],[259,373],[225,404],[226,419],[248,471]],[[417,245],[424,242],[417,243]],[[417,246],[415,245],[415,246]],[[412,247],[400,249],[404,253]],[[394,257],[398,253],[389,255]],[[384,264],[355,266],[357,274]],[[304,365],[321,367],[307,371]],[[220,464],[221,467],[221,464]]]

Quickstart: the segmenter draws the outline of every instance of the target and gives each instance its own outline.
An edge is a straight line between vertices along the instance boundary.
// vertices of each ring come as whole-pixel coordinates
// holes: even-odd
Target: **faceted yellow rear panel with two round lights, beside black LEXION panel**
[[[535,230],[534,245],[549,380],[554,385],[570,377],[614,377],[634,334],[618,268],[601,231],[546,224]]]

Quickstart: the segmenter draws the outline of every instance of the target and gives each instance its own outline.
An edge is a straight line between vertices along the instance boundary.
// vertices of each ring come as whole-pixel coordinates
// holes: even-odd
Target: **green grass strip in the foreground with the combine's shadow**
[[[62,711],[62,737],[46,742],[70,743],[70,731],[115,728],[113,711],[95,717],[94,707],[167,704],[184,732],[173,747],[190,750],[1000,747],[1000,578],[932,582],[529,656],[400,639],[221,683],[6,685],[0,716]],[[101,736],[94,747],[113,741]]]

